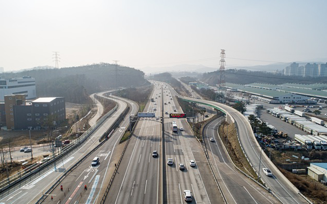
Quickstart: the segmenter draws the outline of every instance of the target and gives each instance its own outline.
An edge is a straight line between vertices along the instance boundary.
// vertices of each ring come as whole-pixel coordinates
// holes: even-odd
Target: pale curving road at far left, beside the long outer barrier
[[[99,144],[99,137],[103,135],[107,128],[115,121],[116,118],[118,118],[118,116],[125,110],[126,107],[127,103],[123,100],[119,100],[118,110],[114,112],[111,117],[109,117],[103,123],[103,125],[101,125],[89,137],[86,142],[84,142],[72,152],[69,152],[69,154],[64,156],[59,161],[49,165],[39,173],[30,176],[28,180],[22,181],[9,190],[2,192],[0,194],[0,203],[35,203],[41,197],[42,192],[48,190],[64,173],[64,171],[73,166],[79,159],[84,157],[91,149]],[[137,111],[135,105],[134,111]],[[109,155],[109,151],[105,151],[103,154]],[[65,188],[65,190],[67,190],[67,188]],[[59,196],[56,194],[54,196],[54,200],[56,197],[59,198]]]

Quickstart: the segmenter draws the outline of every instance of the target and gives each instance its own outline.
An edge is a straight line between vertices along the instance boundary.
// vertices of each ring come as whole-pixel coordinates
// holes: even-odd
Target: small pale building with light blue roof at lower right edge
[[[327,183],[327,163],[310,163],[308,168],[308,175],[312,179],[323,183]]]

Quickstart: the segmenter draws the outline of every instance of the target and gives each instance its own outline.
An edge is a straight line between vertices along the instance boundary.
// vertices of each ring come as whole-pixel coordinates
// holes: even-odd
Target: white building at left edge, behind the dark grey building
[[[32,77],[0,78],[0,100],[4,100],[5,95],[12,94],[25,94],[26,99],[36,98],[35,79]]]

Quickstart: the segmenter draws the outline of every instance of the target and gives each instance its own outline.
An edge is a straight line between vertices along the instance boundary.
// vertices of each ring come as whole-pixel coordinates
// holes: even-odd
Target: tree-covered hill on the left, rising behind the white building
[[[149,83],[144,72],[114,64],[92,64],[60,69],[33,69],[5,72],[1,78],[31,76],[36,81],[37,97],[64,96],[67,102],[85,103],[87,96],[106,88],[134,87]]]

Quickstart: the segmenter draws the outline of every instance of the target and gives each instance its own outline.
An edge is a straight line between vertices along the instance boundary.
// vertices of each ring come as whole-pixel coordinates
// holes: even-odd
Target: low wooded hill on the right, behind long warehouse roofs
[[[209,85],[218,84],[220,77],[219,70],[214,72],[204,73],[201,81]],[[236,84],[251,84],[251,83],[266,83],[266,84],[284,84],[284,83],[327,83],[326,77],[299,77],[285,76],[282,74],[274,74],[266,71],[248,71],[244,69],[227,69],[225,71],[225,82]]]

